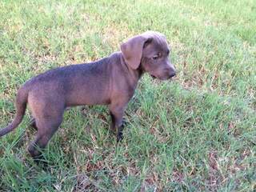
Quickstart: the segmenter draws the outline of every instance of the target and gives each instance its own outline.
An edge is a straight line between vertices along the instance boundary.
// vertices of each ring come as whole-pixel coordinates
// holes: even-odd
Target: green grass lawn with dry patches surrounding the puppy
[[[146,30],[166,34],[178,69],[174,82],[143,76],[118,146],[106,107],[66,111],[48,171],[26,151],[27,111],[0,139],[0,191],[256,190],[255,0],[2,0],[0,18],[0,127],[27,79]]]

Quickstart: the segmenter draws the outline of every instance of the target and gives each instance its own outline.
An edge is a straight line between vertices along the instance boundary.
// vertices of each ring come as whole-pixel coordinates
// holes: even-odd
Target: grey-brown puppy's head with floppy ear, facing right
[[[132,69],[139,67],[153,78],[166,80],[176,74],[170,63],[170,47],[163,34],[148,31],[130,38],[121,45],[122,55]]]

